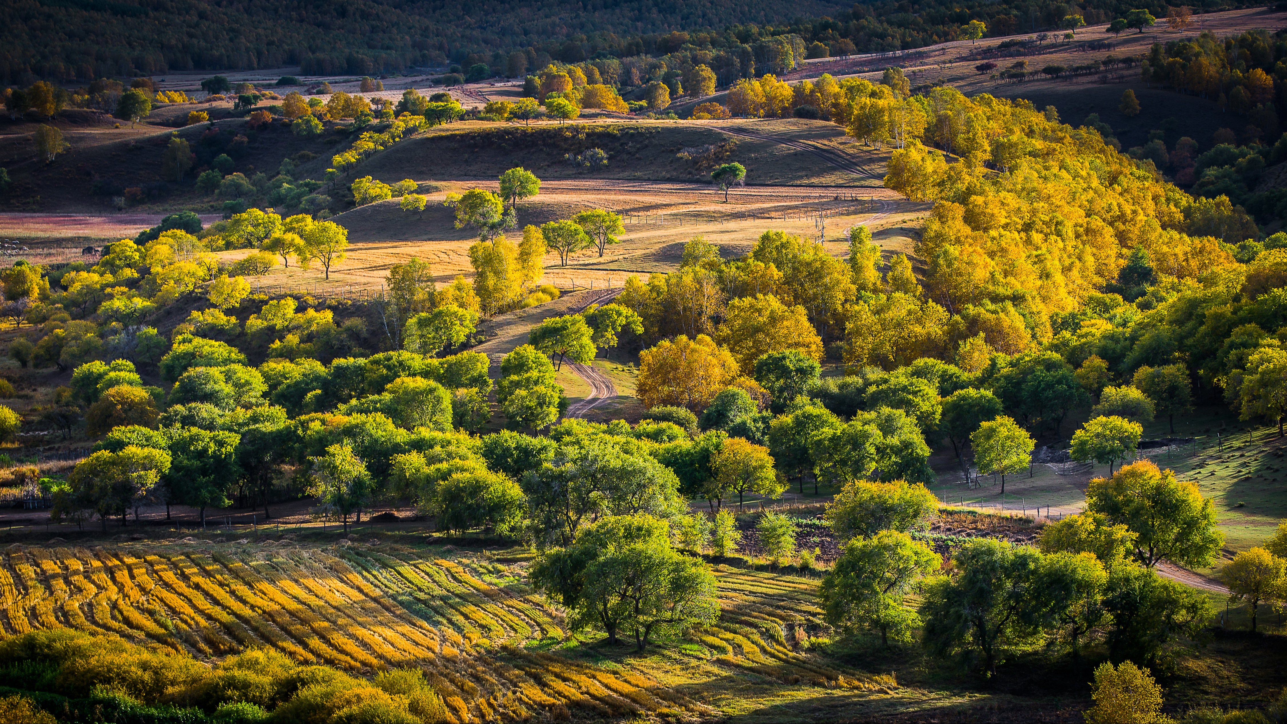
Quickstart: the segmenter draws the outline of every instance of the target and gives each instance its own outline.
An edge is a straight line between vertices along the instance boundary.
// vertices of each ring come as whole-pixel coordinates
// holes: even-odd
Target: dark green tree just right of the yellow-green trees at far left
[[[234,432],[210,432],[196,427],[165,430],[171,466],[165,477],[167,502],[201,509],[201,526],[206,526],[206,508],[230,505],[228,493],[241,477],[237,466]]]

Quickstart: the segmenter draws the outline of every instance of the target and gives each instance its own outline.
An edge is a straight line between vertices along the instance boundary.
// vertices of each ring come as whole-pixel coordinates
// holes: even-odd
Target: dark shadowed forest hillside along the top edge
[[[667,55],[681,49],[736,54],[786,35],[803,39],[811,57],[838,55],[954,40],[972,19],[987,23],[988,35],[1003,36],[1053,28],[1073,12],[1086,23],[1104,22],[1140,5],[1156,17],[1165,17],[1169,6],[1162,0],[1088,0],[1080,9],[1054,0],[875,0],[849,9],[835,0],[614,0],[578,4],[579,9],[519,0],[468,6],[390,0],[15,0],[0,4],[0,84],[292,64],[309,75],[360,76],[484,63],[495,75],[512,77],[550,60]],[[1190,6],[1212,12],[1237,5],[1205,0]],[[797,19],[786,23],[792,17]],[[516,53],[523,55],[520,73],[514,72]]]

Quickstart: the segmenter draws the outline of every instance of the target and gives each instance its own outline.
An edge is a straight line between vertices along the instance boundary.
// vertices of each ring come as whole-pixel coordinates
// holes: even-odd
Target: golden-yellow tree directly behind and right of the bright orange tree
[[[770,352],[799,350],[816,360],[822,359],[822,339],[810,324],[804,307],[788,307],[772,294],[728,302],[717,337],[748,376],[755,360]]]

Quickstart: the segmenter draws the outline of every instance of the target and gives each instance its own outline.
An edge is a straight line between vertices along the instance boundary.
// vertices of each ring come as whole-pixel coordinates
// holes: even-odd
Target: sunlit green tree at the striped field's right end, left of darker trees
[[[938,554],[905,532],[883,530],[849,540],[822,579],[820,598],[826,622],[842,630],[874,629],[880,644],[911,640],[920,624],[903,604],[912,586],[938,570]]]

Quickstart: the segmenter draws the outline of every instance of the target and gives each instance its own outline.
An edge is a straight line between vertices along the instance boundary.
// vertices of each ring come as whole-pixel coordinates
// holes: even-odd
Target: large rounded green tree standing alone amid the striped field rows
[[[541,559],[533,584],[569,610],[574,630],[588,625],[634,637],[638,651],[658,634],[680,635],[719,617],[707,565],[674,550],[669,527],[650,516],[613,516],[577,543]]]

